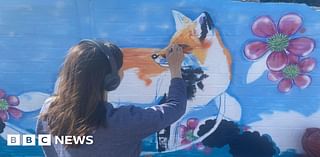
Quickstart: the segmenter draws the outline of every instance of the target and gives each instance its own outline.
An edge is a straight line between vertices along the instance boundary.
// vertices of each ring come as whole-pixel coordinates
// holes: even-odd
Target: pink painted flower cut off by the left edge
[[[16,119],[22,116],[22,111],[14,107],[18,106],[19,103],[18,97],[6,96],[5,91],[0,89],[0,118],[2,121],[7,121],[9,119],[9,114]]]

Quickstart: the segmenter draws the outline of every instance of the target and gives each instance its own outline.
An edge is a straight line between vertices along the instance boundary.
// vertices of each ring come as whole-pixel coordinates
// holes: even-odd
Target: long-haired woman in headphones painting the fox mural
[[[186,87],[181,76],[182,48],[169,46],[171,85],[166,103],[150,108],[108,102],[123,77],[121,50],[114,44],[82,40],[73,46],[60,71],[56,95],[40,112],[37,134],[51,134],[48,157],[136,157],[143,138],[178,120],[186,109]],[[92,144],[60,144],[54,137],[92,136]]]

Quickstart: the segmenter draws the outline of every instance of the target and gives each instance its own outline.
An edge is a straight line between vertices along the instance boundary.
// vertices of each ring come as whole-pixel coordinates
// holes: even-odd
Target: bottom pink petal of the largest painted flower
[[[288,56],[285,52],[272,52],[267,58],[267,67],[271,71],[279,71],[288,64]]]

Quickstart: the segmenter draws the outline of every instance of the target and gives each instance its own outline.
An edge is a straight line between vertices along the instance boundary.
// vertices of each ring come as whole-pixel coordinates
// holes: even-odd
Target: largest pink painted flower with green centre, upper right
[[[257,60],[268,51],[267,67],[272,71],[282,70],[288,64],[288,54],[299,57],[309,55],[315,42],[311,38],[291,38],[302,26],[302,18],[294,13],[286,14],[279,20],[278,25],[269,16],[261,16],[252,24],[252,32],[265,38],[264,41],[253,41],[245,45],[244,55],[249,60]]]

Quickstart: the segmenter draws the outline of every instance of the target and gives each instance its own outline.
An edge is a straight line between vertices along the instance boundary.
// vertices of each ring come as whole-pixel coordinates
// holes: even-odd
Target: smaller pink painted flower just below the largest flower
[[[316,66],[313,58],[304,58],[299,60],[295,55],[288,55],[289,64],[281,71],[270,71],[268,78],[271,81],[279,81],[278,90],[280,92],[289,92],[295,84],[300,89],[308,87],[311,83],[311,76],[307,73],[311,72]]]

